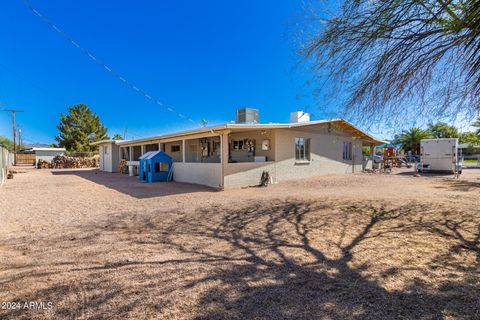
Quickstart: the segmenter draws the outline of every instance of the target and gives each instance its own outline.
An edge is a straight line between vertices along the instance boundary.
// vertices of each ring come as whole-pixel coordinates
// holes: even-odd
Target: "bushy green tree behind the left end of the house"
[[[84,104],[68,107],[68,114],[61,114],[57,129],[59,134],[55,140],[59,147],[68,151],[95,151],[98,147],[90,143],[108,139],[107,128],[100,122],[98,115]]]

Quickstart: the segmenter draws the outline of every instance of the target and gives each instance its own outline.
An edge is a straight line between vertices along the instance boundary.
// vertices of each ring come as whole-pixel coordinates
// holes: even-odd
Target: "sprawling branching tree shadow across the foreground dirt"
[[[62,301],[50,311],[56,318],[480,317],[478,212],[418,203],[252,201],[168,222],[161,212],[127,213],[81,233],[90,245],[108,233],[120,252],[108,263],[87,263],[88,256],[67,271],[30,270],[48,285],[13,298]],[[60,243],[81,257],[85,242],[66,237],[45,245]],[[108,254],[95,248],[89,255]],[[169,254],[152,260],[139,252]]]

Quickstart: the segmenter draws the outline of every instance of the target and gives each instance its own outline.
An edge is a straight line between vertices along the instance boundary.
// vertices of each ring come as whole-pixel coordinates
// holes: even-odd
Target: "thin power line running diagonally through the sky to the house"
[[[192,120],[191,118],[187,117],[183,113],[180,113],[173,109],[172,107],[163,104],[160,100],[155,98],[153,95],[148,94],[145,90],[140,88],[139,86],[135,85],[133,82],[127,80],[125,77],[123,77],[121,74],[116,72],[112,67],[107,65],[106,63],[103,63],[101,60],[99,60],[96,56],[94,56],[90,51],[82,47],[80,44],[78,44],[75,40],[73,40],[68,34],[63,32],[59,27],[57,27],[50,19],[48,19],[46,16],[44,16],[42,13],[40,13],[28,0],[22,0],[22,2],[27,6],[27,8],[32,11],[37,17],[39,17],[43,22],[45,22],[53,31],[58,33],[60,36],[65,38],[68,42],[70,42],[74,47],[79,49],[83,54],[85,54],[87,57],[89,57],[91,60],[93,60],[97,65],[102,67],[102,69],[106,70],[108,73],[112,74],[115,78],[129,86],[132,90],[138,92],[145,98],[153,101],[156,103],[158,106],[164,108],[165,110],[177,115],[178,117],[189,121],[191,123],[194,123],[196,125],[199,125],[196,121]]]

